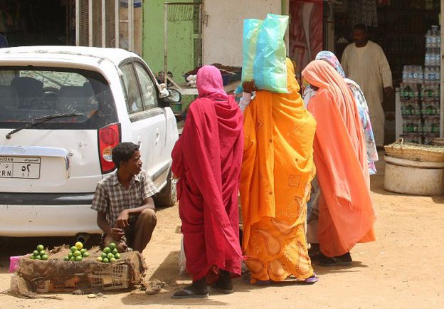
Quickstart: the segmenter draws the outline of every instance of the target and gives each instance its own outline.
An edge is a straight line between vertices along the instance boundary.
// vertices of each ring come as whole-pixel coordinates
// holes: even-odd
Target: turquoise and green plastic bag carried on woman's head
[[[287,93],[285,31],[288,16],[268,14],[263,21],[243,21],[242,81],[255,81],[260,90]]]

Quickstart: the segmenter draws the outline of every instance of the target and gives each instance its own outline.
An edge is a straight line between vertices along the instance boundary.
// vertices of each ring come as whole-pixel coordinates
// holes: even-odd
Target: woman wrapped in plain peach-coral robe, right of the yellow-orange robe
[[[314,163],[319,198],[319,248],[324,266],[351,263],[358,242],[374,241],[366,146],[354,97],[329,63],[312,61],[302,75],[317,93],[308,109],[317,121]]]

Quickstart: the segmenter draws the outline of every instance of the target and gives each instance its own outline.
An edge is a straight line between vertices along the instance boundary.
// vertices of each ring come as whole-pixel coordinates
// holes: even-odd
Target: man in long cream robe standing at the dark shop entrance
[[[381,46],[369,41],[364,24],[353,27],[354,43],[342,54],[342,68],[348,78],[361,86],[367,104],[376,146],[384,146],[385,115],[382,108],[384,93],[393,93],[391,70]]]

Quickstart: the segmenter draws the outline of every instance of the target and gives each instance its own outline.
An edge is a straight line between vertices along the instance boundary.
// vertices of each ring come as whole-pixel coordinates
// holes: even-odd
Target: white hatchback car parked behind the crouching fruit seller
[[[158,189],[176,201],[169,103],[147,64],[117,48],[0,49],[0,236],[100,233],[90,209],[97,182],[115,170],[112,147],[139,145]]]

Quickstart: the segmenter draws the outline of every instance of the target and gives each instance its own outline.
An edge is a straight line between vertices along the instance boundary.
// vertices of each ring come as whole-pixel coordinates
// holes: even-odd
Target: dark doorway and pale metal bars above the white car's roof
[[[0,46],[120,47],[142,54],[142,15],[142,0],[0,0]]]

